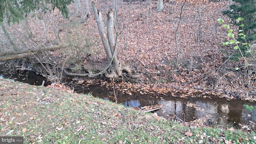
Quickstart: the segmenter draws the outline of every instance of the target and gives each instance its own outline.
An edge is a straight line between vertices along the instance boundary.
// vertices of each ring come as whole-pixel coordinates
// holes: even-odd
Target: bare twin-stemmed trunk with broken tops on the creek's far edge
[[[92,2],[92,9],[94,12],[94,16],[97,22],[98,30],[100,33],[100,37],[107,55],[107,59],[109,64],[112,63],[112,66],[108,68],[108,72],[105,73],[105,76],[108,78],[119,77],[122,75],[122,65],[120,61],[117,59],[115,51],[116,51],[116,42],[114,40],[114,13],[113,10],[108,12],[108,26],[107,26],[107,34],[104,26],[104,22],[102,20],[102,14],[99,10],[97,10],[95,3]],[[114,50],[113,50],[114,49]]]

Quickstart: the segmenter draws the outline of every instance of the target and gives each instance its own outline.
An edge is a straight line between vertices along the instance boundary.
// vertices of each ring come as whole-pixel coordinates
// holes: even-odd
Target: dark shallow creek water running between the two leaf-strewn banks
[[[3,78],[11,78],[16,81],[41,85],[42,81],[47,81],[46,78],[33,71],[18,71],[15,74],[2,75]],[[115,102],[115,95],[113,88],[107,88],[102,85],[100,81],[86,84],[77,84],[72,78],[67,78],[66,83],[74,88],[78,93],[91,93],[93,96],[102,98],[104,100],[110,100]],[[50,83],[45,83],[44,86]],[[255,102],[242,101],[242,100],[226,100],[226,98],[218,98],[217,96],[207,96],[207,98],[199,97],[186,97],[179,98],[173,97],[171,93],[163,94],[141,94],[140,92],[133,92],[132,94],[126,94],[122,91],[115,90],[117,93],[117,102],[129,107],[143,107],[155,104],[161,104],[163,108],[157,110],[158,116],[164,118],[174,118],[176,120],[193,121],[199,118],[208,116],[208,120],[213,124],[248,124],[250,121],[256,123],[256,110],[250,113],[244,107],[245,104],[256,106]],[[191,106],[192,105],[192,106]]]

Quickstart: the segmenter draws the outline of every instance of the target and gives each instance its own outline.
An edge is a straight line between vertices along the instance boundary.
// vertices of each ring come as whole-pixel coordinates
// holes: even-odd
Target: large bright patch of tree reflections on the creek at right
[[[219,98],[220,99],[220,98]],[[164,106],[157,113],[165,118],[177,116],[181,120],[191,121],[195,118],[202,118],[206,115],[210,116],[213,122],[218,124],[226,124],[227,122],[246,124],[249,120],[256,122],[253,119],[256,116],[256,111],[252,114],[244,107],[244,102],[240,100],[226,101],[226,100],[161,100]],[[188,103],[196,104],[198,108],[187,106]],[[164,115],[163,115],[164,113]],[[251,115],[250,117],[248,115]]]

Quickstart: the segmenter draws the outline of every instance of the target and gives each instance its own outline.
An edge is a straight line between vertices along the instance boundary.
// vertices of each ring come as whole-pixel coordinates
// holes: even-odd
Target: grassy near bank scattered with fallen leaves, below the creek
[[[255,132],[188,127],[90,94],[11,80],[0,79],[0,100],[0,136],[24,136],[24,144],[256,143]]]

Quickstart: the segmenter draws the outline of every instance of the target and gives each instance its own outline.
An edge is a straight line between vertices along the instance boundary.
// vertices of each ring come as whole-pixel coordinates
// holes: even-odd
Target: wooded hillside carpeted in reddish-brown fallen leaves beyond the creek
[[[112,1],[97,0],[95,3],[106,21],[106,13],[110,7],[113,7]],[[228,99],[256,101],[254,67],[243,68],[244,60],[234,55],[235,50],[232,46],[221,44],[228,39],[227,30],[221,27],[217,19],[230,21],[221,13],[228,9],[230,5],[228,1],[202,4],[200,42],[198,42],[198,6],[185,4],[176,40],[175,31],[180,20],[182,3],[165,1],[163,12],[156,12],[156,5],[156,1],[118,1],[116,26],[121,33],[118,36],[117,56],[124,66],[129,66],[136,71],[136,74],[142,74],[135,80],[134,87],[153,84],[152,87],[185,92],[211,92]],[[72,15],[76,10],[75,4],[70,5],[69,8]],[[57,36],[61,45],[69,45],[60,50],[34,54],[36,58],[27,57],[23,59],[25,62],[41,61],[60,68],[73,65],[75,67],[71,69],[72,71],[83,70],[88,66],[95,68],[91,66],[92,64],[104,67],[106,54],[94,14],[92,10],[90,12],[89,18],[84,22],[80,21],[81,14],[63,19],[58,10],[54,10],[51,15],[43,16],[50,43],[46,42],[37,19],[39,14],[27,18],[34,36],[33,40],[26,37],[19,24],[11,26],[6,24],[6,28],[18,45],[16,51],[38,46],[54,46]],[[51,23],[53,21],[54,24]],[[57,33],[54,34],[54,30]],[[4,37],[1,48],[3,48],[0,50],[2,54],[13,51]],[[254,49],[255,46],[252,50]],[[250,58],[247,58],[247,61],[255,62]],[[12,68],[12,66],[8,68],[10,67]],[[237,67],[240,69],[235,70]]]

